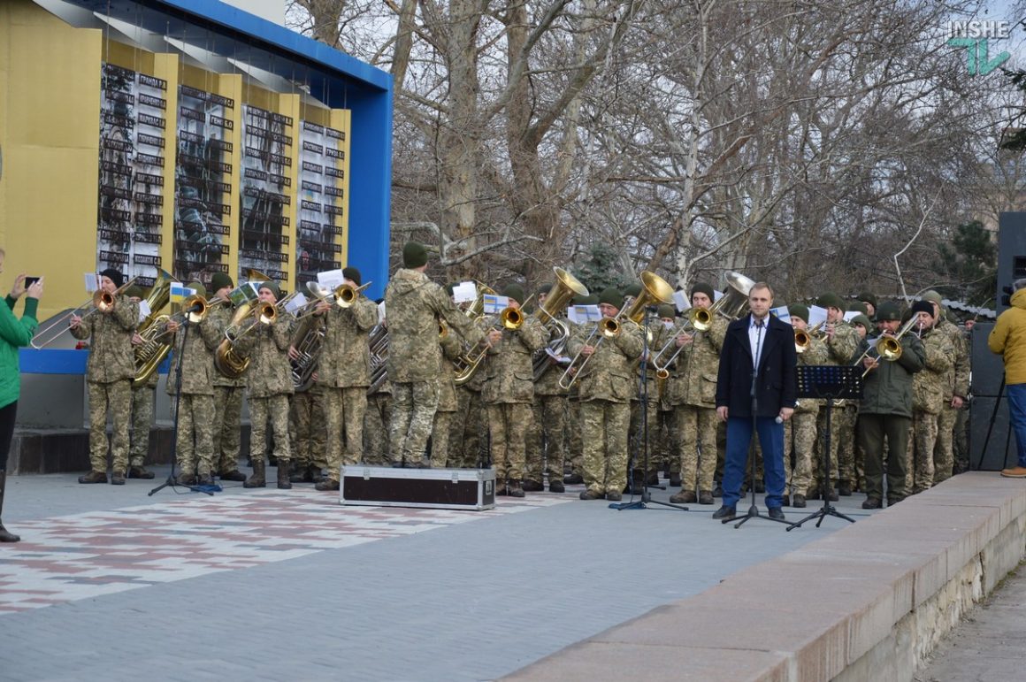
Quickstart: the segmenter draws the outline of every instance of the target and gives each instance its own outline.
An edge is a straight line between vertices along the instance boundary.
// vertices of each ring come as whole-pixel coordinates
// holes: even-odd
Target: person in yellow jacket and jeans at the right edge
[[[1026,279],[1013,284],[1012,307],[1000,314],[987,345],[1004,361],[1004,395],[1016,435],[1018,463],[1001,470],[1008,478],[1026,478]]]

